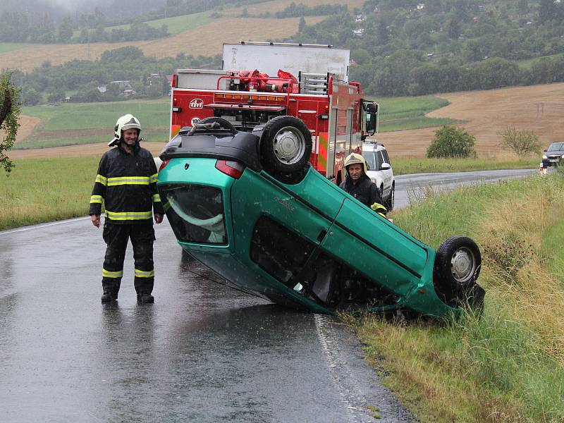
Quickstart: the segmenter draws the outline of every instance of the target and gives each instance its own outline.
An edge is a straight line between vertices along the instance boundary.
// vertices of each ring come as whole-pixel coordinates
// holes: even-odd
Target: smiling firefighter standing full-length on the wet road
[[[102,302],[118,299],[128,239],[133,245],[137,301],[154,302],[153,218],[161,223],[164,210],[157,192],[157,166],[151,153],[140,147],[140,132],[135,116],[118,118],[114,139],[108,144],[115,147],[102,156],[90,197],[90,220],[97,228],[102,203],[106,210]]]

